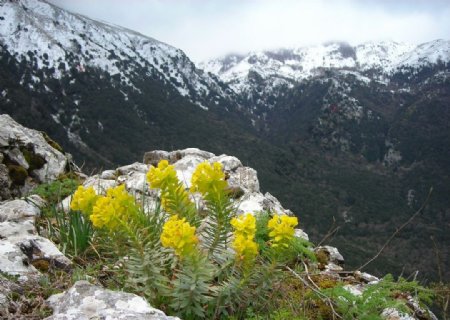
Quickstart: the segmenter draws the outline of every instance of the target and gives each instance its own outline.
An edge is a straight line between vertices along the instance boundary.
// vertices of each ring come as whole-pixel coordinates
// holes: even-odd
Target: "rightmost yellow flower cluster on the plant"
[[[289,242],[294,238],[294,227],[297,224],[297,217],[274,215],[267,223],[267,227],[271,230],[269,236],[272,238],[272,246],[288,247]]]

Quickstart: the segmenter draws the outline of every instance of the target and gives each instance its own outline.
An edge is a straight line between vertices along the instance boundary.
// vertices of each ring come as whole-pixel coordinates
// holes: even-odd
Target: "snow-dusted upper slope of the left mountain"
[[[204,99],[211,91],[227,95],[180,49],[42,0],[0,1],[0,43],[18,62],[25,59],[36,69],[53,68],[51,76],[57,79],[72,67],[97,67],[139,91],[135,77],[143,68],[146,74],[141,76],[159,78],[205,109]]]

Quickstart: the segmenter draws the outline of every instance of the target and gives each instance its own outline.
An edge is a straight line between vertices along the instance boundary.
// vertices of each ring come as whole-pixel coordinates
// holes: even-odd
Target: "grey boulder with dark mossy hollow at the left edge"
[[[0,201],[22,196],[71,166],[70,156],[45,133],[0,115]]]

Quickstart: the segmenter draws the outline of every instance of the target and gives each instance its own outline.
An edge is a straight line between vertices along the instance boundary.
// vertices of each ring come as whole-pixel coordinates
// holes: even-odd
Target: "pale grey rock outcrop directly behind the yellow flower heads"
[[[192,174],[197,165],[203,161],[219,162],[225,171],[228,185],[232,196],[235,198],[238,213],[257,213],[261,211],[277,212],[280,214],[293,215],[293,213],[283,208],[281,203],[270,193],[261,193],[256,170],[245,167],[241,161],[233,156],[216,156],[211,152],[206,152],[197,148],[188,148],[172,152],[155,150],[145,153],[144,163],[133,163],[122,166],[116,170],[106,170],[98,175],[89,177],[84,186],[93,186],[97,192],[103,193],[106,189],[119,184],[125,184],[126,189],[137,197],[145,197],[144,203],[155,204],[157,192],[150,190],[146,182],[146,173],[151,165],[156,166],[159,161],[168,160],[177,171],[178,179],[190,187]],[[63,207],[68,209],[70,198],[63,201]],[[308,235],[298,230],[297,235],[308,238]]]

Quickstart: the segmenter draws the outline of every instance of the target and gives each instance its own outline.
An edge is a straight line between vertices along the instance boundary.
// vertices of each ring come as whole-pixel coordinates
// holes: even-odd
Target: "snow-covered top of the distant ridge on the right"
[[[251,95],[258,85],[257,91],[267,95],[273,94],[280,86],[292,87],[302,80],[321,76],[326,70],[352,74],[366,83],[388,82],[389,76],[396,72],[448,61],[448,40],[435,40],[418,46],[391,41],[357,46],[328,43],[227,55],[203,62],[200,67],[219,76],[237,93]]]

